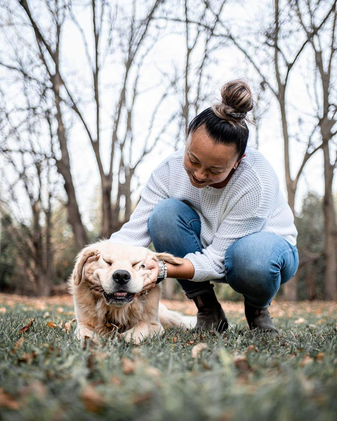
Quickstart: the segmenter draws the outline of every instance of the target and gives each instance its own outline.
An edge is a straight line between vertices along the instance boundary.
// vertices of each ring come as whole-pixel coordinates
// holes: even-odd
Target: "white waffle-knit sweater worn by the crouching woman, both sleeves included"
[[[183,168],[184,148],[170,155],[151,174],[130,221],[111,235],[113,242],[147,247],[154,206],[163,199],[183,200],[201,220],[202,253],[188,253],[194,281],[224,277],[224,257],[236,240],[254,232],[273,232],[296,244],[294,216],[279,189],[279,179],[265,157],[252,147],[223,189],[192,186]]]

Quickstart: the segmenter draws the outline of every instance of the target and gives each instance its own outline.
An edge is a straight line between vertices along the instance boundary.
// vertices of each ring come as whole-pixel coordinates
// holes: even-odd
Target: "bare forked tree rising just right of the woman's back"
[[[228,23],[221,21],[224,30],[223,37],[232,41],[246,59],[252,65],[257,75],[260,77],[261,86],[264,89],[269,89],[279,104],[282,134],[284,140],[284,168],[285,178],[288,192],[288,203],[292,211],[295,207],[295,194],[298,181],[303,172],[303,168],[308,159],[323,146],[323,143],[313,144],[313,138],[310,137],[306,142],[305,153],[300,162],[299,168],[295,177],[291,176],[290,171],[290,143],[291,136],[289,135],[289,122],[287,115],[287,86],[289,85],[289,77],[292,69],[299,60],[301,54],[310,43],[310,40],[316,35],[324,26],[327,19],[334,13],[334,5],[329,7],[324,16],[318,21],[317,25],[310,32],[308,37],[300,40],[297,45],[294,45],[294,35],[298,32],[298,28],[293,26],[295,21],[294,13],[286,3],[282,3],[280,8],[280,1],[274,0],[273,20],[266,29],[262,30],[264,40],[261,40],[259,34],[252,36],[252,33],[234,31],[228,26]],[[261,33],[261,29],[259,29]],[[297,34],[298,35],[298,34]],[[265,67],[271,67],[271,72],[266,72]],[[296,277],[284,285],[284,297],[288,300],[296,300],[297,298],[297,281]]]

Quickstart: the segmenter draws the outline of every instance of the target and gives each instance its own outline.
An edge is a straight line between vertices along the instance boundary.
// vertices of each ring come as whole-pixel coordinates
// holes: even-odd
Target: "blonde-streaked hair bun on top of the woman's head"
[[[248,120],[247,113],[254,107],[252,92],[244,80],[236,79],[221,88],[222,101],[211,109],[222,120],[232,124],[244,125]]]

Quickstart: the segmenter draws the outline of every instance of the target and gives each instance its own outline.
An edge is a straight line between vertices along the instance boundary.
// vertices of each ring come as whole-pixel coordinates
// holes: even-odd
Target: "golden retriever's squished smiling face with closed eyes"
[[[85,266],[90,291],[103,294],[106,304],[124,306],[133,301],[143,289],[148,271],[141,264],[153,258],[154,253],[144,247],[101,242],[99,258]]]

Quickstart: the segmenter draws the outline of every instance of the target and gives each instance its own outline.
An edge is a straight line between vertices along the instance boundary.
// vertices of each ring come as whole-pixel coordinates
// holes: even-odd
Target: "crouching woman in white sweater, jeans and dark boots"
[[[177,278],[198,308],[196,330],[228,327],[210,283],[218,280],[243,294],[250,329],[277,331],[268,307],[297,270],[294,217],[271,165],[247,147],[248,85],[233,80],[221,96],[191,121],[185,148],[153,171],[130,221],[110,239],[152,241],[158,252],[184,258],[178,266],[147,262],[145,286],[153,288],[158,274]]]

